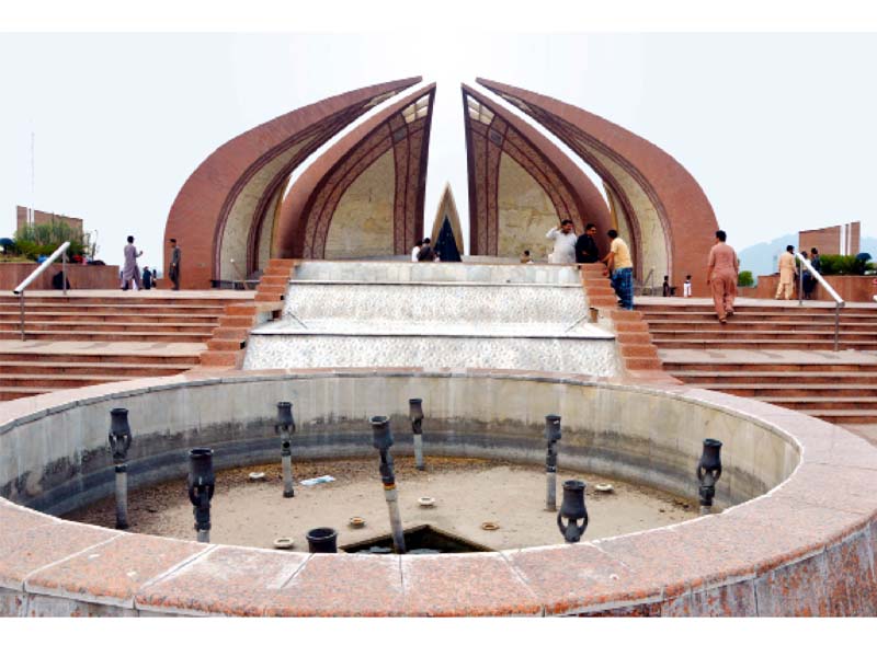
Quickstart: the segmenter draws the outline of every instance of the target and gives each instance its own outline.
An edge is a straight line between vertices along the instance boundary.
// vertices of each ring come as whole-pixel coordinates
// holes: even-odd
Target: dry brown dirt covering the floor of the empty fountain
[[[319,460],[293,463],[295,497],[283,497],[280,458],[276,463],[220,471],[212,506],[210,542],[252,548],[273,548],[282,537],[294,539],[293,550],[307,552],[305,534],[317,527],[338,530],[338,544],[360,542],[389,533],[387,504],[377,459]],[[426,470],[414,468],[413,458],[395,460],[399,506],[406,528],[430,525],[493,550],[560,544],[556,512],[545,507],[545,469],[478,459],[428,458]],[[251,472],[264,472],[253,482]],[[299,482],[321,475],[335,481],[304,486]],[[557,504],[563,498],[562,482],[588,483],[590,523],[583,540],[613,537],[673,525],[697,516],[697,503],[670,494],[611,480],[601,475],[559,469]],[[596,491],[611,484],[612,493]],[[693,486],[695,484],[692,484]],[[178,539],[195,539],[192,506],[185,479],[150,488],[130,491],[130,530]],[[421,507],[419,498],[435,505]],[[351,517],[365,527],[349,527]],[[68,520],[113,527],[112,497],[65,516]],[[499,529],[481,529],[483,522]]]

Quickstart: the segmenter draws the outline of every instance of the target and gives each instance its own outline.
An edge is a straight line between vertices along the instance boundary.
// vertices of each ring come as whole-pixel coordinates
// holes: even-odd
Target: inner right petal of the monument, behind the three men
[[[597,226],[606,251],[612,218],[584,172],[537,129],[463,84],[472,255],[516,257],[526,249],[545,260],[546,231],[572,219],[581,234]]]

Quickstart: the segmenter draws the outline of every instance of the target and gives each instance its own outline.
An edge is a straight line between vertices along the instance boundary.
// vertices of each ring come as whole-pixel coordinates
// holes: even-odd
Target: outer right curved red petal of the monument
[[[603,180],[613,219],[634,255],[635,277],[654,286],[693,276],[695,296],[718,229],[697,181],[653,143],[568,103],[491,80],[477,82],[554,132]]]

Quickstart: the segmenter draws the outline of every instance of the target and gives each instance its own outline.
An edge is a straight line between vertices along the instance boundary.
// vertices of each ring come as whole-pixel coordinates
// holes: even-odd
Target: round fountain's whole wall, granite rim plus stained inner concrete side
[[[395,412],[401,422],[408,396],[423,396],[426,422],[444,426],[436,445],[447,453],[503,443],[522,453],[529,445],[535,453],[540,434],[534,437],[534,428],[546,413],[559,412],[561,459],[580,448],[578,458],[605,465],[624,443],[619,468],[631,469],[629,476],[652,472],[672,485],[675,473],[696,462],[701,440],[716,437],[725,441],[719,500],[762,491],[719,515],[659,530],[574,546],[435,557],[205,546],[61,521],[0,498],[0,614],[877,613],[877,449],[790,411],[680,385],[405,369],[190,373],[113,383],[3,404],[0,487],[43,505],[77,486],[77,494],[87,494],[88,481],[102,485],[102,473],[112,470],[104,443],[114,406],[130,410],[132,449],[152,446],[151,457],[135,454],[135,462],[162,453],[179,461],[167,447],[201,445],[209,439],[202,431],[232,420],[241,434],[224,445],[240,443],[229,458],[243,459],[248,440],[266,439],[253,427],[262,418],[265,428],[277,395],[296,404],[299,431],[309,436],[303,441],[314,454],[337,449],[321,438],[334,427],[346,426],[341,435],[356,446],[354,424],[378,412]],[[465,426],[452,426],[460,422]],[[503,435],[482,438],[480,447],[460,439],[494,428]],[[162,435],[169,441],[163,448]]]

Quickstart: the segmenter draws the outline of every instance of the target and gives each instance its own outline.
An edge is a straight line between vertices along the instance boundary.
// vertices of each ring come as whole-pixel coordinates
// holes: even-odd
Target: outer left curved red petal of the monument
[[[181,287],[249,276],[266,255],[289,174],[353,120],[421,81],[365,87],[300,107],[227,141],[192,173],[171,206],[164,241],[182,249]],[[232,262],[234,261],[234,262]],[[164,270],[170,254],[164,256]]]

